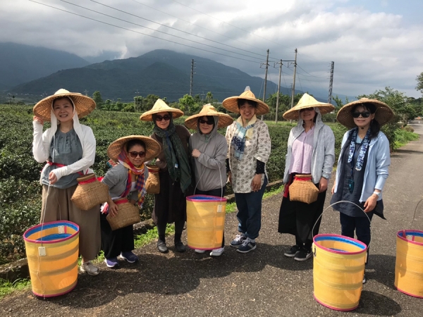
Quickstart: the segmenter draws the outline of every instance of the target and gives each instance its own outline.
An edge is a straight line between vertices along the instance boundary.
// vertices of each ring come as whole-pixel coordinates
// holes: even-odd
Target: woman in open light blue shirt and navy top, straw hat
[[[373,214],[385,219],[382,190],[391,158],[388,138],[380,127],[392,118],[393,111],[388,105],[367,98],[346,104],[336,116],[339,123],[351,130],[343,136],[331,204],[351,201],[360,206],[341,202],[333,209],[340,211],[341,235],[354,237],[355,231],[357,240],[367,246]]]

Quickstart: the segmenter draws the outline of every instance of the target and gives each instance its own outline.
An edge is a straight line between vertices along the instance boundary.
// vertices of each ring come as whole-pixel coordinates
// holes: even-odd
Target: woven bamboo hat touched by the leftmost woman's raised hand
[[[51,106],[54,99],[61,97],[69,97],[73,101],[75,111],[78,113],[78,118],[87,116],[95,108],[95,101],[90,97],[84,96],[78,92],[68,92],[66,89],[59,89],[53,95],[38,101],[32,111],[35,116],[42,118],[44,121],[51,121]]]

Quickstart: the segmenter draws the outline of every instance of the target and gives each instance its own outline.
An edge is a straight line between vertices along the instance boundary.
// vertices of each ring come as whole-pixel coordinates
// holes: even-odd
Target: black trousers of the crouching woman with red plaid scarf
[[[111,230],[107,215],[100,215],[100,228],[102,229],[102,250],[104,257],[111,259],[121,252],[133,251],[134,247],[134,228],[128,225],[118,230]]]

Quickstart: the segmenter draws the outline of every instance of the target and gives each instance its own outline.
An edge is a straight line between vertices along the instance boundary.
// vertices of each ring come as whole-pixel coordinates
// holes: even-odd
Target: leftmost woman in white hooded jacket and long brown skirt
[[[94,108],[95,102],[90,97],[59,89],[34,106],[32,142],[35,160],[39,163],[47,161],[40,179],[41,222],[70,220],[79,225],[80,270],[90,275],[99,273],[97,266],[91,263],[100,251],[99,207],[82,211],[73,204],[71,197],[78,185],[76,179],[92,173],[94,134],[90,127],[81,125],[78,118],[87,116]],[[44,121],[51,121],[51,128],[43,133]]]

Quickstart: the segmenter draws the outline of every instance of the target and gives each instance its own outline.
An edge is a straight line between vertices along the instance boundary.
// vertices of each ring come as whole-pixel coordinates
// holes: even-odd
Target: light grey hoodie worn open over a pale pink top
[[[333,163],[335,163],[335,136],[332,129],[325,125],[321,120],[321,114],[318,107],[314,107],[317,112],[316,125],[314,130],[313,153],[312,153],[312,181],[314,184],[320,182],[321,177],[331,178]],[[285,173],[283,174],[283,182],[289,180],[290,160],[292,158],[292,146],[302,132],[303,120],[300,118],[298,124],[290,130],[288,137],[288,151],[286,152]]]

